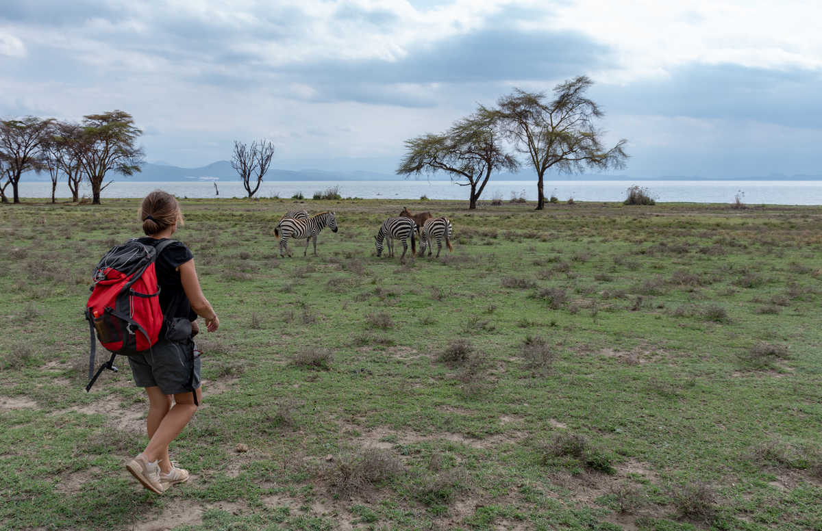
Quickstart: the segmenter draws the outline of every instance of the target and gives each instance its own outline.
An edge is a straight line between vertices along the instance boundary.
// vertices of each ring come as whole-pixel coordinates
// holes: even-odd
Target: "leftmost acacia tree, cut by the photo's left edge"
[[[12,185],[14,203],[20,203],[20,178],[25,172],[44,169],[42,144],[48,137],[51,119],[25,117],[0,121],[0,158],[6,163],[6,173]]]

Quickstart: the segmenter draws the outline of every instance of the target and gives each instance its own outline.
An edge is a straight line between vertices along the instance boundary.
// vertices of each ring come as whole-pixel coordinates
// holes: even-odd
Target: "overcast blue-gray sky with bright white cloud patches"
[[[586,74],[628,176],[822,174],[822,2],[2,0],[0,117],[122,109],[150,162],[394,172],[403,142]]]

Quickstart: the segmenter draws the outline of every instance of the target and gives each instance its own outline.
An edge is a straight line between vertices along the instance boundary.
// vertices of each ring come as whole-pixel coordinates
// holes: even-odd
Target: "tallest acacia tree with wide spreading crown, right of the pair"
[[[611,149],[603,147],[603,131],[595,121],[603,112],[585,92],[593,85],[588,76],[567,80],[554,88],[552,101],[543,93],[514,89],[497,101],[496,112],[507,138],[520,153],[528,155],[537,172],[537,209],[545,206],[545,172],[581,172],[585,167],[625,167],[627,140]]]

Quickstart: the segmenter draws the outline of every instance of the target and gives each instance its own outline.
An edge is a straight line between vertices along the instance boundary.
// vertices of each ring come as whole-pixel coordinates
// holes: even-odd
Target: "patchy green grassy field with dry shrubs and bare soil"
[[[162,497],[125,359],[83,389],[136,200],[0,205],[0,529],[822,529],[822,208],[182,205],[221,327]],[[377,259],[404,206],[455,251]]]

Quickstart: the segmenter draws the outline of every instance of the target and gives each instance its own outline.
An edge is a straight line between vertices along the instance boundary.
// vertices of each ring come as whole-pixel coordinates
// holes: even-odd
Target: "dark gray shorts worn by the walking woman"
[[[200,387],[200,356],[194,356],[194,341],[190,339],[162,338],[144,355],[128,356],[128,364],[137,387],[156,386],[165,395],[192,392]]]

